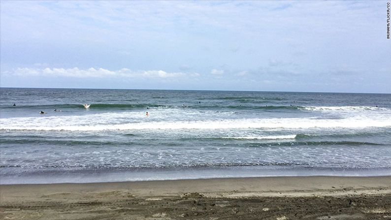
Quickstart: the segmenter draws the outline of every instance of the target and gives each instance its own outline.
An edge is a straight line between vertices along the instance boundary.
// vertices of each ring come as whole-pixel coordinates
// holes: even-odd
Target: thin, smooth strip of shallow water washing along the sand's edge
[[[4,171],[4,170],[3,170]],[[11,173],[12,173],[11,169]],[[16,171],[16,172],[20,172]],[[391,176],[391,170],[377,169],[314,169],[282,166],[219,166],[190,168],[137,168],[107,170],[47,170],[24,175],[1,173],[0,185],[62,184],[62,183],[116,183],[149,182],[173,180],[207,180],[229,178],[271,178],[271,177],[381,177]],[[260,175],[261,174],[261,175]]]

